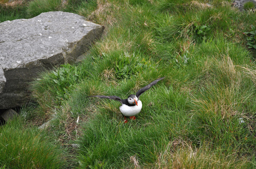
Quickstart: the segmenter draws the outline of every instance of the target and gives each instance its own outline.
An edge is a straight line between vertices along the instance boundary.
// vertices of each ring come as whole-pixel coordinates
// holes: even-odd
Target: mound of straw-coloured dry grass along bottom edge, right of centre
[[[195,148],[191,143],[177,138],[169,142],[164,152],[159,153],[155,164],[146,168],[243,168],[246,163],[246,159],[238,159],[235,154],[226,156],[214,153],[207,146]]]

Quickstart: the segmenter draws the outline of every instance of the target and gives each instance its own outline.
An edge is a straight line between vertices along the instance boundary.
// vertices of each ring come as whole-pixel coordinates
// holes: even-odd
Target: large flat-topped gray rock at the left
[[[73,63],[101,37],[103,29],[69,12],[0,23],[0,109],[27,102],[28,83],[38,73]]]

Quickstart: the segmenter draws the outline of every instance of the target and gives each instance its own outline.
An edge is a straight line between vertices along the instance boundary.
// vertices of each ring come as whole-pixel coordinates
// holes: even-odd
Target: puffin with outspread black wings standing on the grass
[[[161,81],[161,79],[164,79],[164,78],[165,77],[158,78],[155,81],[148,84],[147,86],[140,88],[140,90],[136,92],[136,95],[131,94],[127,97],[127,99],[121,99],[118,96],[103,96],[103,95],[95,95],[95,96],[89,96],[89,97],[100,97],[102,99],[111,99],[111,100],[119,101],[122,104],[119,107],[120,112],[124,115],[124,118],[125,118],[124,123],[127,123],[126,117],[129,117],[130,119],[134,120],[136,119],[135,115],[137,115],[142,109],[142,101],[139,100],[139,96],[143,94],[145,91],[149,90],[153,85],[155,85],[157,82]]]

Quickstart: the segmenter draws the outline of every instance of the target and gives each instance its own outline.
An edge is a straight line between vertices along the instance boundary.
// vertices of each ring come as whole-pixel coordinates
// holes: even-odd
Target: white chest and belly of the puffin
[[[136,114],[138,114],[140,112],[140,110],[142,109],[142,101],[138,101],[138,106],[127,106],[125,104],[122,104],[119,107],[121,113],[125,116],[134,116]]]

